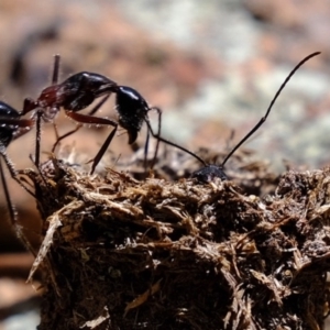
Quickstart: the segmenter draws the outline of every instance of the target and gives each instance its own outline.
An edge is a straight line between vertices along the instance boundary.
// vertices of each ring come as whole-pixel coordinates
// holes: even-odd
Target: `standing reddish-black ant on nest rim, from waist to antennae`
[[[138,134],[143,122],[145,122],[147,125],[147,136],[144,147],[145,158],[147,154],[150,134],[157,140],[152,167],[157,155],[160,142],[164,142],[184,152],[187,152],[188,154],[197,157],[204,165],[207,165],[201,158],[190,151],[161,136],[162,110],[156,107],[148,107],[145,99],[135,89],[128,86],[120,86],[105,76],[88,72],[75,74],[64,80],[62,84],[57,84],[58,68],[59,55],[56,55],[52,86],[42,90],[36,101],[32,99],[25,99],[24,107],[21,112],[21,116],[23,116],[30,111],[35,111],[33,117],[36,117],[36,144],[34,160],[36,167],[40,165],[41,120],[43,119],[46,122],[54,121],[61,107],[64,108],[66,116],[77,121],[79,124],[75,130],[69,131],[62,136],[57,135],[57,141],[53,146],[53,151],[61,140],[79,130],[82,124],[110,125],[113,128],[97,155],[90,161],[92,162],[90,174],[95,172],[96,166],[109,147],[118,127],[127,130],[129,135],[129,144],[132,145],[138,139]],[[116,94],[116,110],[119,117],[118,122],[107,118],[94,116],[112,92]],[[91,109],[88,114],[77,113],[78,111],[90,106],[97,98],[102,96],[103,98]],[[155,110],[158,114],[157,134],[154,133],[147,117],[147,113],[151,110]]]

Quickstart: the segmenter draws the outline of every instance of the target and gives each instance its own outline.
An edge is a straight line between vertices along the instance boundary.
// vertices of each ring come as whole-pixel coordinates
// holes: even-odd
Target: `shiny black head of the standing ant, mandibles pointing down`
[[[129,144],[134,143],[150,110],[145,99],[131,87],[118,86],[116,110],[119,124],[128,131]]]

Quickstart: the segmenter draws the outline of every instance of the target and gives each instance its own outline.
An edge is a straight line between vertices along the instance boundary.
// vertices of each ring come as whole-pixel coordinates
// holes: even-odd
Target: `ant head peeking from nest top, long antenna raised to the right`
[[[316,52],[312,53],[310,55],[308,55],[307,57],[305,57],[302,61],[300,61],[295,68],[289,73],[289,75],[286,77],[286,79],[284,80],[284,82],[280,85],[279,89],[277,90],[277,92],[275,94],[273,100],[271,101],[268,109],[266,111],[266,114],[264,117],[262,117],[262,119],[258,121],[258,123],[231,150],[231,152],[224,157],[224,160],[222,161],[222,163],[218,166],[218,165],[213,165],[213,164],[209,164],[206,165],[205,162],[204,163],[205,167],[194,172],[191,174],[193,178],[196,178],[198,182],[201,183],[209,183],[212,182],[216,177],[221,178],[222,180],[228,179],[226,173],[224,173],[224,165],[226,163],[229,161],[229,158],[235,153],[235,151],[253,134],[255,133],[260,127],[266,121],[276,99],[278,98],[278,96],[280,95],[282,90],[284,89],[284,87],[286,86],[286,84],[290,80],[290,78],[294,76],[294,74],[298,70],[298,68],[306,63],[307,61],[309,61],[311,57],[315,57],[317,55],[319,55],[320,52]],[[196,157],[198,161],[200,161],[199,157]]]

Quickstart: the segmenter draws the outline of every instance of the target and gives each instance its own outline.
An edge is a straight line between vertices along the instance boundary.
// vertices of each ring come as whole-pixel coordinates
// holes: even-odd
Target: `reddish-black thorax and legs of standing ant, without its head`
[[[41,120],[46,122],[53,122],[56,114],[59,112],[61,107],[64,108],[66,114],[77,121],[79,125],[57,139],[56,144],[64,138],[76,132],[84,123],[87,124],[106,124],[117,125],[117,123],[110,119],[94,117],[94,113],[105,103],[109,98],[111,90],[110,86],[114,82],[107,77],[103,77],[94,73],[78,73],[70,76],[63,82],[58,84],[58,70],[59,70],[59,55],[55,56],[54,70],[52,85],[42,90],[40,97],[36,100],[25,99],[24,107],[21,111],[21,116],[30,111],[34,111],[33,117],[36,118],[36,142],[35,142],[35,165],[40,165],[40,146],[41,146]],[[103,97],[96,107],[88,114],[80,114],[80,111],[90,106],[97,98]],[[55,131],[56,125],[54,123]]]

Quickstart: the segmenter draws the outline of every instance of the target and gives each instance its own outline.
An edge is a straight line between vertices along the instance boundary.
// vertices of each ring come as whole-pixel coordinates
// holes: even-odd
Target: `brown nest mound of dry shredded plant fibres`
[[[45,220],[32,268],[44,286],[40,330],[322,327],[330,169],[288,172],[261,197],[238,179],[47,165],[33,177]]]

